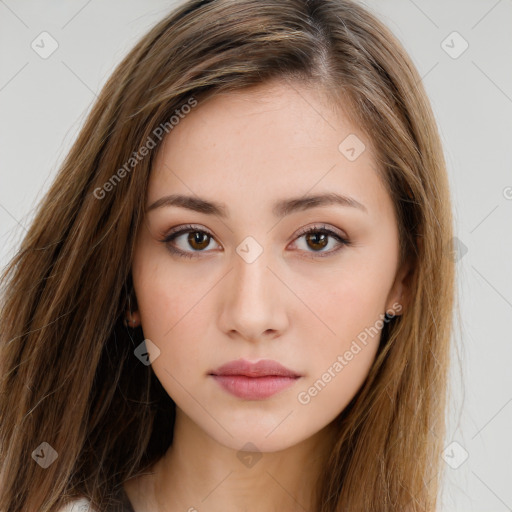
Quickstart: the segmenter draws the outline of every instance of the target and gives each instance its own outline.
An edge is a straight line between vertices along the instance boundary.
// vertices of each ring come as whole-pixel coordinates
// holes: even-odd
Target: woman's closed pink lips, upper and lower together
[[[292,386],[301,375],[277,361],[230,361],[210,376],[227,392],[246,400],[263,400]]]

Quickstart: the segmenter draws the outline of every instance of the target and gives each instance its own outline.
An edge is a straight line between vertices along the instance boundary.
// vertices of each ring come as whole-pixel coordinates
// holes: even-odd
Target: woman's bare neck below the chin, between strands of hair
[[[274,452],[240,452],[219,444],[178,408],[173,444],[154,466],[159,512],[313,510],[321,468],[334,443],[334,423]]]

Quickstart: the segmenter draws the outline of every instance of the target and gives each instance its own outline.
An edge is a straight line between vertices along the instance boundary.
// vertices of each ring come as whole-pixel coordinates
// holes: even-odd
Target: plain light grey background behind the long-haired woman
[[[106,79],[174,4],[0,0],[2,267]],[[512,0],[364,4],[423,77],[452,187],[461,322],[439,510],[512,510]],[[45,31],[58,48],[42,58]]]

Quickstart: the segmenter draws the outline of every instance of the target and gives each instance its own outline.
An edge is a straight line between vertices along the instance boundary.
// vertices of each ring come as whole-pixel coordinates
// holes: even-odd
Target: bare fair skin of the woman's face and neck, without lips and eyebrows
[[[164,206],[147,212],[137,234],[133,321],[158,347],[148,348],[152,368],[176,403],[172,446],[150,475],[125,484],[137,512],[312,510],[333,420],[368,375],[380,331],[342,371],[333,364],[385,311],[403,313],[408,268],[398,265],[394,207],[371,141],[326,98],[318,88],[267,82],[201,102],[164,140],[147,205],[180,193],[224,203],[229,216]],[[354,161],[338,149],[350,134],[366,145]],[[277,200],[324,192],[367,211],[272,213]],[[212,235],[171,242],[191,259],[160,241],[185,224]],[[351,245],[301,235],[319,224]],[[236,252],[248,236],[263,250],[252,263]],[[274,359],[301,377],[270,398],[243,400],[209,375],[241,357]],[[329,368],[330,381],[301,403],[299,393]],[[237,456],[248,442],[253,464]]]

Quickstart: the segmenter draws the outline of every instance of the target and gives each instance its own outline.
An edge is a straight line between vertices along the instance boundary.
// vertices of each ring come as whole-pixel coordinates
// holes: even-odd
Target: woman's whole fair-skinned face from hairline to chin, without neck
[[[326,194],[349,199],[306,200]],[[301,85],[220,95],[164,140],[146,204],[132,275],[177,421],[261,451],[328,426],[370,370],[384,313],[403,306],[398,226],[371,141]],[[212,375],[239,359],[295,377]]]

